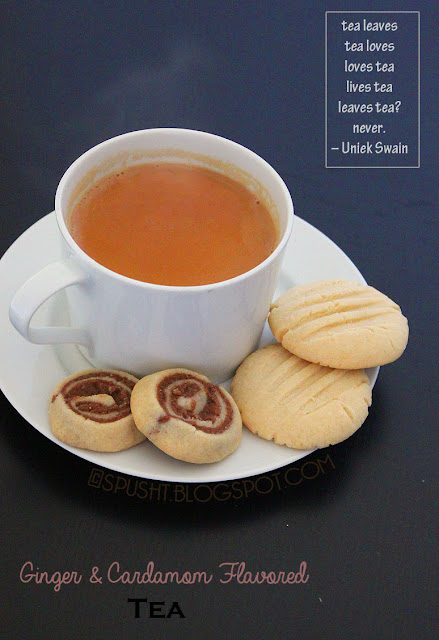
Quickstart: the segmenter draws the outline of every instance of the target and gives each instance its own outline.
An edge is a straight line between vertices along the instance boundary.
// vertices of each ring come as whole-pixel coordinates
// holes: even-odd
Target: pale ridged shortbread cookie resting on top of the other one
[[[320,280],[290,289],[271,305],[274,337],[300,358],[335,369],[393,362],[408,340],[401,309],[373,287]]]

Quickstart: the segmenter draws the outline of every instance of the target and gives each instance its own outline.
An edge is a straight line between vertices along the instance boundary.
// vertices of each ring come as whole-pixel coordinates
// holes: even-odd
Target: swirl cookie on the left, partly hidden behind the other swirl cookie
[[[137,378],[123,371],[87,369],[60,382],[49,419],[62,442],[91,451],[121,451],[145,440],[131,415]]]

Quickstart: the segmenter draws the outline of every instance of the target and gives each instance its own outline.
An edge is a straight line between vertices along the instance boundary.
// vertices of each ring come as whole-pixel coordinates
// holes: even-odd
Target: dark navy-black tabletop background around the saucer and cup
[[[193,486],[180,502],[170,500],[183,495],[173,486],[146,498],[94,488],[92,465],[45,439],[2,396],[2,637],[438,637],[438,14],[427,2],[385,7],[421,11],[421,168],[325,169],[324,12],[383,8],[366,4],[1,3],[1,253],[53,209],[62,174],[89,147],[133,129],[202,129],[268,160],[297,214],[396,300],[411,328],[404,356],[380,372],[364,426],[296,465],[299,484],[265,495],[270,480],[247,497],[212,493],[205,502],[209,494],[195,499]],[[26,560],[85,577],[59,593],[22,584]],[[130,571],[153,560],[163,571],[216,575],[221,562],[256,571],[306,561],[310,579],[85,582],[93,565],[114,560]],[[136,620],[128,597],[177,600],[186,619]]]

